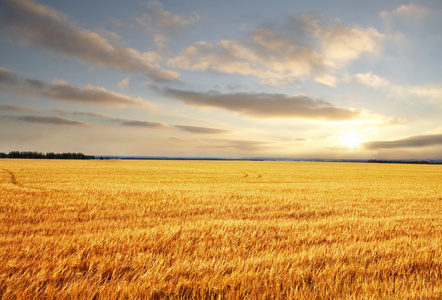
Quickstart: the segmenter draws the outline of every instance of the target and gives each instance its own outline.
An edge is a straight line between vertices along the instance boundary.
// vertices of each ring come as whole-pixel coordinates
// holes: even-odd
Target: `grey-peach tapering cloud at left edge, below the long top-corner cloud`
[[[50,98],[57,101],[107,107],[153,105],[141,98],[132,99],[126,95],[110,92],[103,87],[86,85],[78,88],[66,81],[56,80],[50,84],[24,78],[8,69],[0,68],[0,89],[21,95]]]

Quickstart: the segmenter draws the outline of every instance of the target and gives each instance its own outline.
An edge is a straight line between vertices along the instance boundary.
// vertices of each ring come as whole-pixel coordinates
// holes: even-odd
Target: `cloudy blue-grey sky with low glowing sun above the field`
[[[0,152],[441,159],[442,1],[3,0]]]

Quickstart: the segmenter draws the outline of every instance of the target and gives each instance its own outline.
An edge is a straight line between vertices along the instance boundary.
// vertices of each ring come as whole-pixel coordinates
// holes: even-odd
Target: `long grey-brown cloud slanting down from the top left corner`
[[[29,0],[5,0],[0,24],[21,42],[44,51],[75,57],[97,66],[141,72],[154,80],[178,80],[179,74],[163,70],[154,52],[113,45],[97,32],[73,25],[67,16]]]

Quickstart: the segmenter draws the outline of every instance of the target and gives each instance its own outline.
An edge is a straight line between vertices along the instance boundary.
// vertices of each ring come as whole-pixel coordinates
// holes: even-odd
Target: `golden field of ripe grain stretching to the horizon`
[[[442,166],[0,160],[0,298],[441,299]]]

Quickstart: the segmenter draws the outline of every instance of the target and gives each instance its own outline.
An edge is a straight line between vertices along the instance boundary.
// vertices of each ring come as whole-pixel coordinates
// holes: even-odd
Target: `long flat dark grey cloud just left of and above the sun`
[[[305,118],[327,121],[353,120],[360,116],[354,109],[334,107],[307,96],[268,93],[199,93],[175,89],[161,90],[166,96],[198,107],[223,108],[257,118]]]

